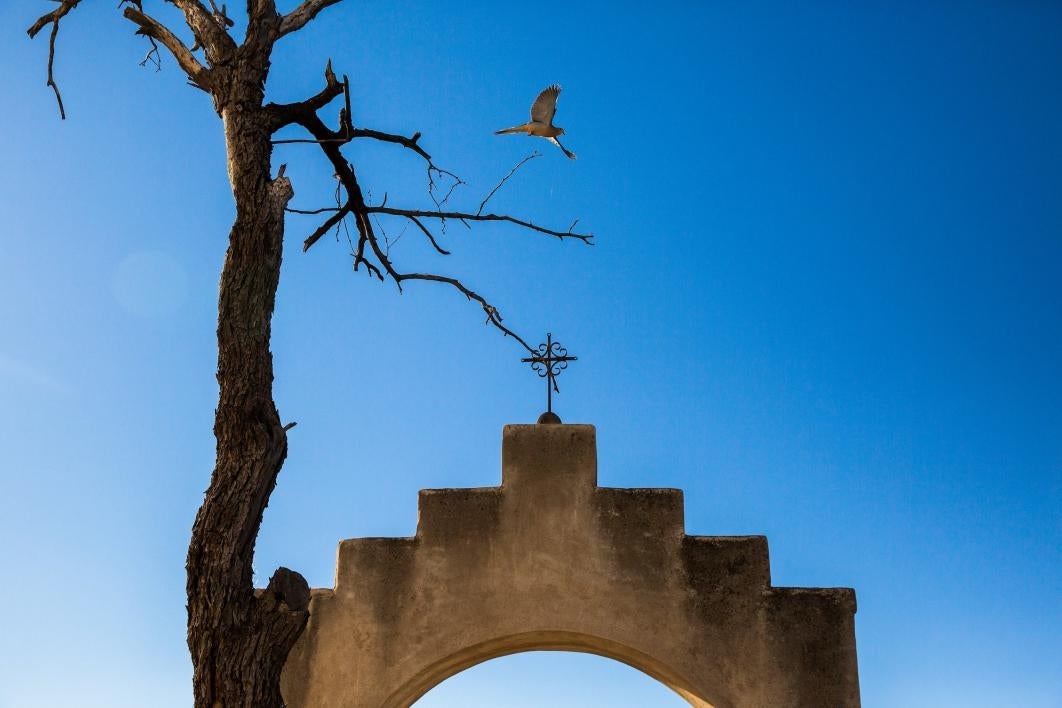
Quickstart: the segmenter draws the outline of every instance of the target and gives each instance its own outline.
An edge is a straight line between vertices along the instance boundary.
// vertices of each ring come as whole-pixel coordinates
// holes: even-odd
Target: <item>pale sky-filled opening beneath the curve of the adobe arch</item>
[[[688,708],[655,678],[595,654],[529,651],[483,661],[425,693],[415,708]]]

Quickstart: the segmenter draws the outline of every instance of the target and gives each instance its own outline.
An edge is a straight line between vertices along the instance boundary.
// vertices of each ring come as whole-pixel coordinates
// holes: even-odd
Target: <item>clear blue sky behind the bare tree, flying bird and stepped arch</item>
[[[493,206],[596,246],[451,224],[452,256],[413,232],[392,254],[578,355],[556,408],[598,426],[601,483],[684,488],[689,533],[767,534],[776,585],[855,587],[869,708],[1062,706],[1062,5],[502,4],[345,3],[281,42],[269,93],[316,91],[330,56],[356,121],[421,131],[473,209],[541,150]],[[5,708],[190,704],[233,205],[208,99],[168,57],[138,67],[114,5],[59,33],[66,122],[24,35],[51,5],[0,7]],[[578,161],[492,135],[553,82]],[[373,198],[429,204],[415,156],[348,154]],[[275,162],[293,206],[328,204],[314,150]],[[474,306],[399,296],[331,238],[302,254],[313,226],[289,221],[276,399],[298,427],[256,568],[329,586],[339,539],[413,533],[418,488],[497,483],[502,425],[543,401]],[[676,704],[615,662],[523,655],[425,705],[513,692]]]

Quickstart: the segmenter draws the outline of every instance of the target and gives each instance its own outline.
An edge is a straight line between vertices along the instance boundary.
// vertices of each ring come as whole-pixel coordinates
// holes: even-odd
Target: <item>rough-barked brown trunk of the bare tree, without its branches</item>
[[[273,402],[270,324],[292,189],[270,174],[261,107],[268,67],[238,65],[227,94],[216,93],[236,221],[218,298],[217,461],[188,548],[196,708],[280,708],[280,671],[309,617],[309,589],[297,573],[279,569],[257,595],[252,580],[262,512],[288,450]]]

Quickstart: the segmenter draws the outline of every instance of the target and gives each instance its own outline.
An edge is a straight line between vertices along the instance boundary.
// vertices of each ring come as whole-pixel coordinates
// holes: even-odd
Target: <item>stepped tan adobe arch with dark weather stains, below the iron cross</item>
[[[597,486],[593,426],[507,426],[501,486],[425,489],[416,535],[342,541],[292,708],[404,708],[480,661],[600,654],[710,708],[857,708],[855,593],[770,584],[763,536],[687,536],[679,489]]]

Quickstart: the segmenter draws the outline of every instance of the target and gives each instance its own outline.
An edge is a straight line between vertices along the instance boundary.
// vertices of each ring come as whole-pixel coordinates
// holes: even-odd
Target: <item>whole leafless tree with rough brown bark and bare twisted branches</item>
[[[280,671],[291,646],[306,625],[309,589],[296,572],[279,568],[268,587],[256,593],[252,584],[255,540],[262,512],[276,485],[288,450],[287,431],[273,401],[273,358],[270,330],[280,274],[285,211],[293,195],[291,180],[281,166],[273,176],[271,156],[277,131],[298,125],[307,131],[306,142],[322,150],[342,187],[336,206],[304,210],[327,213],[327,218],[304,243],[304,251],[344,220],[356,225],[350,239],[355,270],[364,267],[380,280],[402,283],[427,280],[457,289],[486,314],[487,323],[527,343],[502,325],[497,309],[460,280],[433,273],[398,270],[390,243],[381,238],[374,221],[400,219],[416,227],[440,254],[432,225],[447,220],[508,222],[559,239],[590,242],[590,236],[539,226],[506,214],[484,213],[493,190],[476,211],[451,210],[449,192],[460,180],[435,166],[421,146],[421,134],[411,137],[357,127],[350,111],[349,84],[340,81],[330,63],[321,90],[298,103],[276,104],[264,100],[266,80],[275,42],[298,32],[318,14],[340,0],[302,0],[288,14],[280,14],[274,0],[247,0],[246,34],[237,42],[229,34],[234,22],[225,5],[210,7],[201,0],[167,0],[184,15],[193,44],[143,8],[142,0],[124,0],[122,15],[137,34],[150,42],[143,63],[157,66],[159,47],[165,48],[187,74],[188,82],[208,93],[221,117],[225,135],[228,178],[236,201],[236,220],[228,235],[228,251],[218,296],[218,383],[220,395],[215,417],[217,460],[203,505],[195,517],[188,548],[188,649],[194,669],[193,690],[198,708],[279,707]],[[57,5],[29,29],[31,37],[51,27],[48,85],[55,92],[59,113],[65,108],[53,75],[55,38],[59,22],[81,0],[57,0]],[[182,31],[183,32],[183,31]],[[332,129],[319,111],[339,97],[344,105]],[[412,151],[428,173],[428,189],[434,208],[413,209],[366,202],[357,173],[342,148],[353,140],[377,140]],[[517,165],[517,168],[519,165]],[[516,168],[514,168],[515,171]],[[498,183],[500,187],[510,172]],[[447,193],[436,180],[449,180]]]

